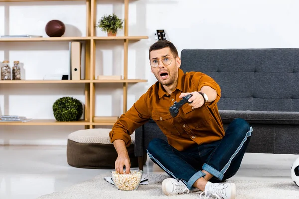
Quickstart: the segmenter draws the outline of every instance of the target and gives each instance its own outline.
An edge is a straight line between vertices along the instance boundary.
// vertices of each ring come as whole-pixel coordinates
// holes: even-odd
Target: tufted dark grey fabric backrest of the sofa
[[[220,85],[219,110],[299,111],[299,48],[184,49],[181,60]]]

